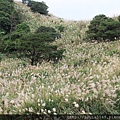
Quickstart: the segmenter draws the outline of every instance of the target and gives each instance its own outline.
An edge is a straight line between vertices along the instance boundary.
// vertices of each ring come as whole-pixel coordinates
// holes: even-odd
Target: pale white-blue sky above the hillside
[[[18,0],[21,1],[21,0]],[[92,20],[95,15],[120,15],[120,0],[34,0],[44,1],[49,13],[66,20]]]

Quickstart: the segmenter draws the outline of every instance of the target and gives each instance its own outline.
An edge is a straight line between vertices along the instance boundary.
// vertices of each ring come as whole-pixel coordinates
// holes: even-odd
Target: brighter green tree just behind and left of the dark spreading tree
[[[2,52],[4,53],[15,53],[18,51],[17,44],[19,42],[19,39],[24,36],[25,34],[28,34],[30,32],[30,27],[27,25],[27,23],[22,22],[21,24],[18,24],[16,27],[16,31],[11,32],[10,34],[7,34],[3,37],[4,39],[4,48]],[[17,45],[17,46],[16,46]]]

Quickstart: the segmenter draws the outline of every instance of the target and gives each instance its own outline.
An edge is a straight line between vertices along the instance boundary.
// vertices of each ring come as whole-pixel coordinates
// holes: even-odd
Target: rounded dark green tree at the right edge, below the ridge
[[[90,40],[115,40],[120,37],[120,22],[105,15],[97,15],[90,22],[86,33]]]

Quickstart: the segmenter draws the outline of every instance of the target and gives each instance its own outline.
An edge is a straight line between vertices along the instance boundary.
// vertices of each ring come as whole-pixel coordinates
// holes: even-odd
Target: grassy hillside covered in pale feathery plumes
[[[120,113],[120,40],[88,43],[88,21],[66,21],[32,13],[16,2],[31,31],[45,25],[65,27],[54,44],[65,48],[58,63],[30,66],[4,58],[0,62],[0,113]]]

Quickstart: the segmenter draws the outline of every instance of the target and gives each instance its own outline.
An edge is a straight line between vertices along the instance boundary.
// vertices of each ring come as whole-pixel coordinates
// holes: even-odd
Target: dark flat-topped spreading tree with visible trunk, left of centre
[[[26,34],[18,41],[17,52],[20,56],[31,60],[31,65],[41,63],[43,60],[57,62],[62,58],[63,50],[58,50],[56,45],[50,44],[55,39],[46,33]]]

